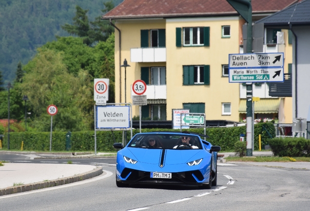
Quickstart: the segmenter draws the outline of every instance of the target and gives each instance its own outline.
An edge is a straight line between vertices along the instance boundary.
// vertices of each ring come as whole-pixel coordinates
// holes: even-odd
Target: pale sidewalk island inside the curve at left
[[[61,156],[70,158],[73,156],[71,153],[66,155],[61,154],[60,157],[59,154],[47,154],[46,156],[42,156],[36,152],[0,151],[0,153],[23,154],[24,156],[29,157],[29,159],[50,159],[51,157],[60,158]],[[4,166],[0,166],[0,196],[78,182],[96,177],[103,173],[102,167],[91,165],[33,163],[3,164]]]

